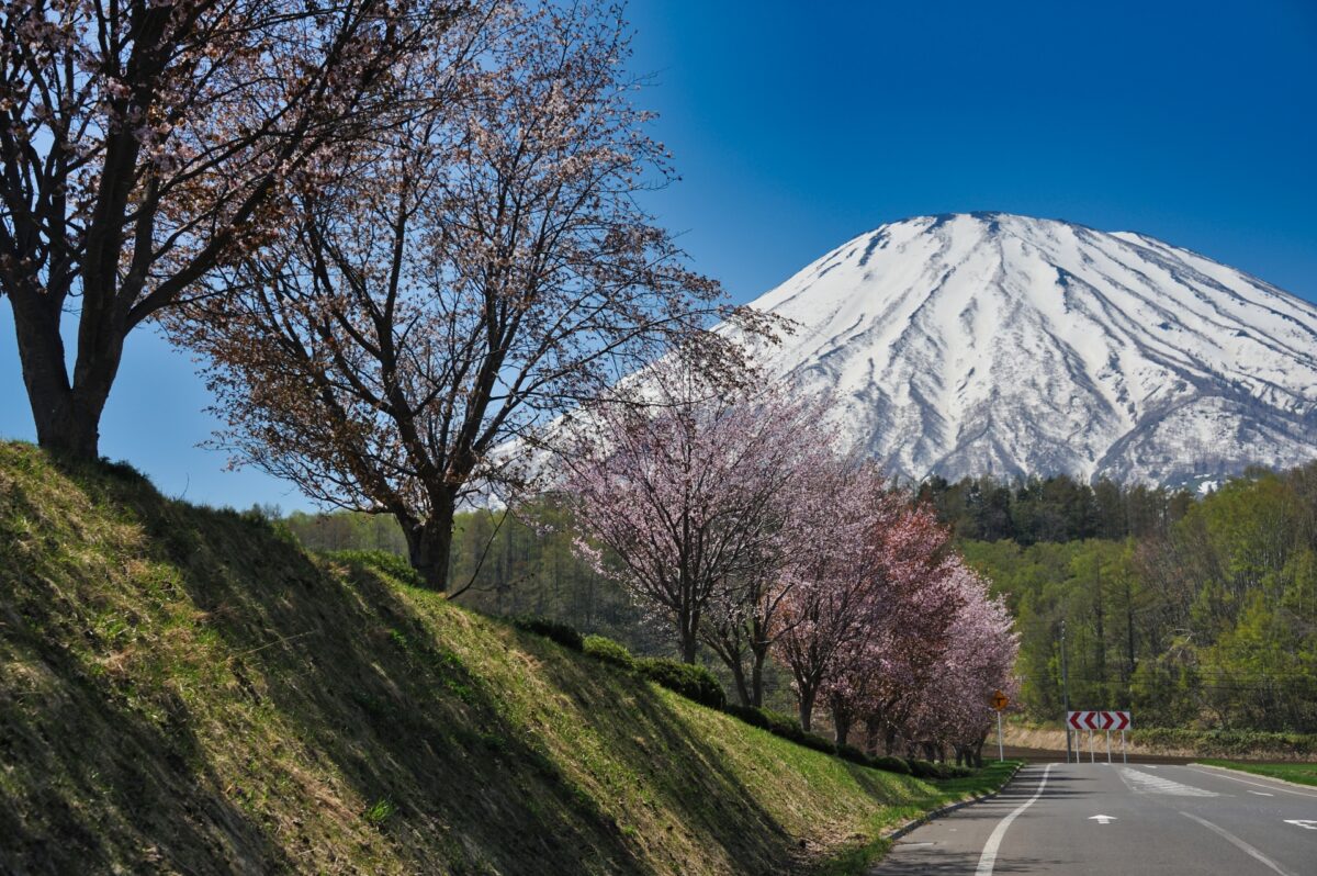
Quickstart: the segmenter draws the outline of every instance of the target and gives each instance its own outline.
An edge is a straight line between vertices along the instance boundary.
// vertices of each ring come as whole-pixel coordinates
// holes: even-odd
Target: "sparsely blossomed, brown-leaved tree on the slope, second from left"
[[[612,9],[514,4],[454,88],[344,159],[291,233],[244,260],[244,291],[180,333],[213,366],[240,457],[329,505],[392,514],[444,589],[453,512],[537,425],[718,311],[635,195],[668,174],[623,78]],[[453,76],[449,80],[449,76]],[[510,444],[512,441],[512,444]]]

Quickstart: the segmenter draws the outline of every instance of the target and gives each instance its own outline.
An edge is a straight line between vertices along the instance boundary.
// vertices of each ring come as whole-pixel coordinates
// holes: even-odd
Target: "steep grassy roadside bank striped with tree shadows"
[[[961,790],[0,443],[0,871],[814,869]]]

